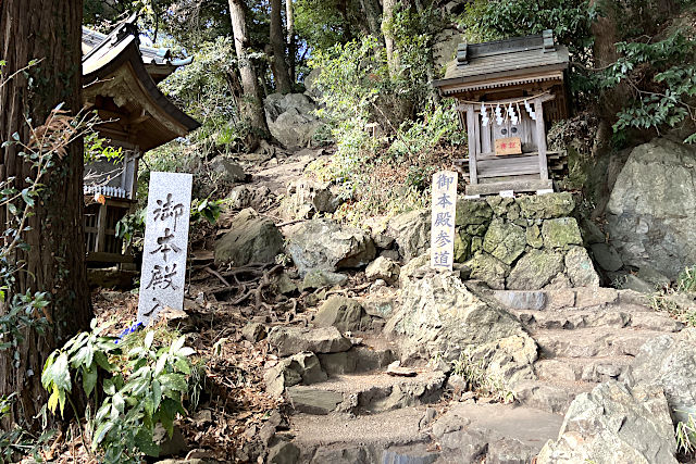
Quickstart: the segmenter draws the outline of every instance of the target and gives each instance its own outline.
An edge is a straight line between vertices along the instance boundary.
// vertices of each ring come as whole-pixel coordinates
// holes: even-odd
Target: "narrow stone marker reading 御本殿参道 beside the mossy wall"
[[[452,171],[435,173],[431,218],[431,267],[452,269],[456,206],[457,173]]]

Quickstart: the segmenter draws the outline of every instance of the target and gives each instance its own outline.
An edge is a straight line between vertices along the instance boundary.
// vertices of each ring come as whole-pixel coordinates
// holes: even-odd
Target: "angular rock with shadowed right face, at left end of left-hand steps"
[[[297,353],[281,360],[263,375],[265,389],[274,397],[279,397],[287,387],[298,384],[312,385],[326,380],[319,358],[314,353]]]

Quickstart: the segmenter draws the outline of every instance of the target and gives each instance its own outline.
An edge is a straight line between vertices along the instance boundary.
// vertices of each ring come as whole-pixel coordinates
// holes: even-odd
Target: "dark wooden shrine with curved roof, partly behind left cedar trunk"
[[[83,27],[83,99],[104,123],[100,137],[123,150],[123,160],[85,166],[85,235],[88,263],[125,263],[116,223],[136,204],[138,160],[148,150],[185,137],[200,124],[176,108],[157,83],[178,66],[166,49],[140,45],[134,18],[104,35]]]

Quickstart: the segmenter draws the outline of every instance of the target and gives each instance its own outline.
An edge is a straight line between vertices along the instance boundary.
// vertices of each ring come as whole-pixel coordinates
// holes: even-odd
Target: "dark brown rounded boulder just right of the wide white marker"
[[[283,234],[273,221],[247,209],[237,214],[231,230],[215,242],[215,263],[272,263],[282,251]]]

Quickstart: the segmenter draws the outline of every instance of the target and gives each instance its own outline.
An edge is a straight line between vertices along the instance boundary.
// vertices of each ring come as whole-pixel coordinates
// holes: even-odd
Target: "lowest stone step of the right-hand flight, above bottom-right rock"
[[[529,407],[564,414],[575,397],[591,391],[597,384],[563,380],[524,380],[514,386],[514,397]]]

